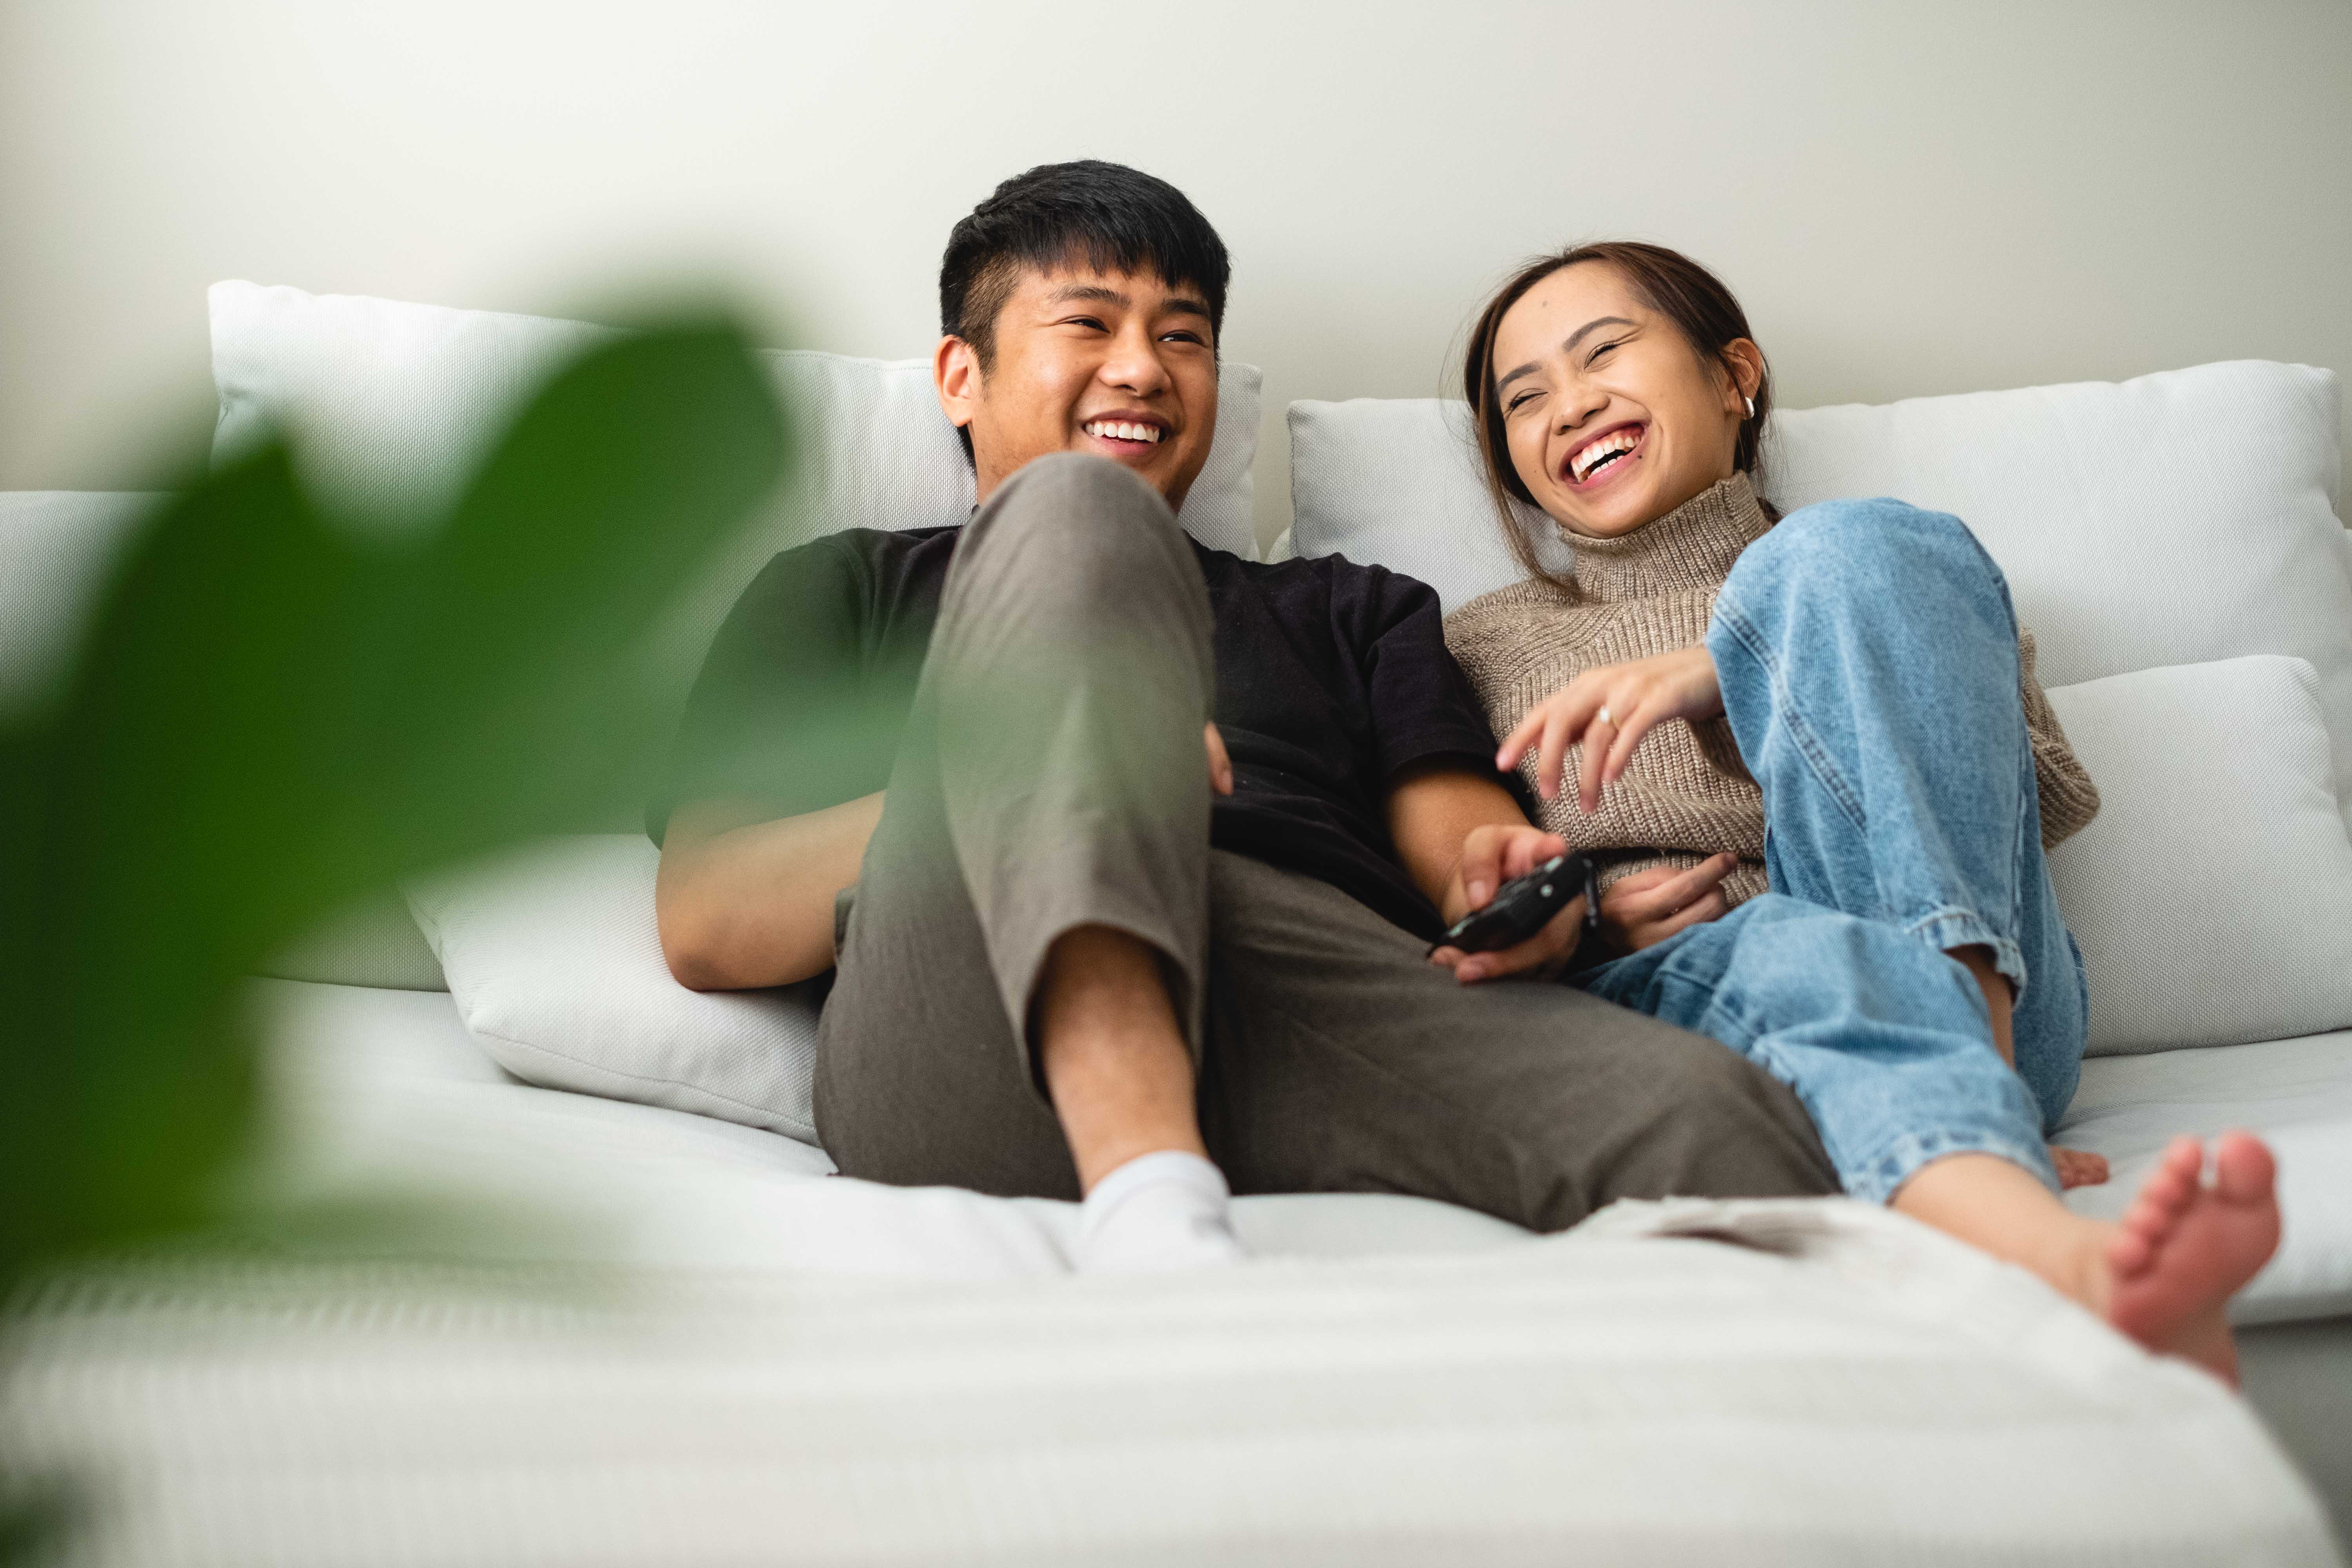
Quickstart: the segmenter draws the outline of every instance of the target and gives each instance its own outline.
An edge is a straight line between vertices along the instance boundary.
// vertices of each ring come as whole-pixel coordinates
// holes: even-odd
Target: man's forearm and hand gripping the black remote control
[[[1501,783],[1449,762],[1409,769],[1390,785],[1388,837],[1414,886],[1449,926],[1484,907],[1512,877],[1569,849],[1559,835],[1531,825]],[[1432,961],[1461,980],[1557,969],[1576,952],[1583,919],[1585,900],[1571,898],[1517,947],[1475,954],[1439,947]]]

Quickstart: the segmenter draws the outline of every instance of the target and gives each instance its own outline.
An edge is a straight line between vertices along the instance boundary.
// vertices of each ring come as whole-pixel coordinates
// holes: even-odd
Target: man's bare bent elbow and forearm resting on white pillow
[[[882,792],[762,818],[760,806],[727,799],[670,816],[654,924],[680,985],[748,990],[833,969],[833,898],[858,879]]]

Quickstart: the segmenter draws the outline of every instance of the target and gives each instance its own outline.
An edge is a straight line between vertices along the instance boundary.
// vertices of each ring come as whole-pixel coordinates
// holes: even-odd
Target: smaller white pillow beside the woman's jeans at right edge
[[[2312,668],[2225,658],[2049,696],[2100,792],[2051,851],[2091,1053],[2352,1027],[2352,842]]]

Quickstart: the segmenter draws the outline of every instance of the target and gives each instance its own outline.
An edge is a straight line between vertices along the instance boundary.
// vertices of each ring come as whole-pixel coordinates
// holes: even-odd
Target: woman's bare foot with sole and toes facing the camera
[[[2107,1321],[2140,1345],[2237,1385],[2230,1298],[2279,1251],[2279,1166],[2260,1138],[2173,1138],[2107,1237]]]

